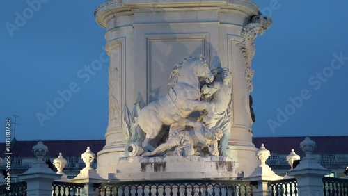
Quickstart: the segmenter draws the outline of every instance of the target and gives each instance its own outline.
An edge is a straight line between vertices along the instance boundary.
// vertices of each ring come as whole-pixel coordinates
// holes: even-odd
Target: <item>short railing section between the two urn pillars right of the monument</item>
[[[282,179],[277,181],[269,181],[271,195],[297,195],[297,179]]]

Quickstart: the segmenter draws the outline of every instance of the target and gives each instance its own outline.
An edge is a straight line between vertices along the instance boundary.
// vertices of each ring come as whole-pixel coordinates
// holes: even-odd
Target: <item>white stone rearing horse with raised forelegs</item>
[[[171,125],[179,122],[180,124],[192,126],[201,123],[187,119],[193,111],[207,111],[205,122],[212,120],[214,104],[200,101],[201,93],[198,80],[200,77],[209,82],[214,79],[205,58],[202,56],[200,58],[184,58],[182,63],[174,65],[174,70],[169,78],[171,83],[168,83],[168,86],[171,86],[171,89],[168,95],[159,97],[159,99],[152,101],[142,109],[138,107],[136,121],[139,122],[141,130],[146,133],[146,137],[142,142],[145,149],[150,151],[155,149],[151,142],[159,136],[163,124]]]

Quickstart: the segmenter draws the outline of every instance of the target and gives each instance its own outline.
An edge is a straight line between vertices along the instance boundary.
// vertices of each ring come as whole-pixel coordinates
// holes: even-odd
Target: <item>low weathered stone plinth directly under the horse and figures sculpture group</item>
[[[241,174],[227,156],[122,157],[110,181],[144,179],[238,179]]]

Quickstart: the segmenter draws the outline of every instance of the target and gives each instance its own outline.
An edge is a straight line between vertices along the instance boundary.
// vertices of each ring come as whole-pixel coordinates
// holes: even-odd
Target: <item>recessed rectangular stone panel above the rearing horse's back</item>
[[[207,55],[207,33],[151,35],[147,37],[148,100],[166,95],[173,65],[187,56]]]

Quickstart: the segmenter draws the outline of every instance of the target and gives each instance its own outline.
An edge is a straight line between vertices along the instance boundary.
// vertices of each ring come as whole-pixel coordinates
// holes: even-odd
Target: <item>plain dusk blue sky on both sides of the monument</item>
[[[77,73],[104,55],[105,30],[93,15],[104,1],[46,1],[12,32],[8,23],[15,25],[16,13],[23,15],[29,5],[0,3],[0,142],[6,117],[14,114],[21,124],[17,140],[102,139],[108,122],[109,62],[88,81]],[[274,24],[256,40],[254,136],[347,135],[348,1],[255,3]],[[335,69],[330,68],[333,59],[338,59]],[[326,75],[322,81],[317,72]],[[60,97],[57,91],[69,85],[79,91],[42,126],[35,114],[45,113],[47,101],[52,104]],[[289,97],[301,94],[306,99],[291,111]],[[291,115],[277,120],[286,108]]]

